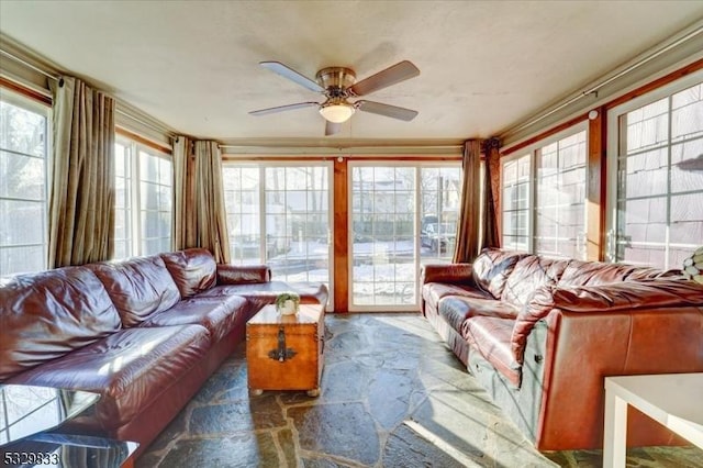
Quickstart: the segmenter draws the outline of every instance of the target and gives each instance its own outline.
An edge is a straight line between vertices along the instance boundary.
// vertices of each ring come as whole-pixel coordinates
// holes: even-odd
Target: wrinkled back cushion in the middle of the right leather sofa
[[[566,259],[537,255],[522,257],[505,280],[501,300],[517,309],[522,308],[537,288],[556,286],[568,265],[569,260]]]

